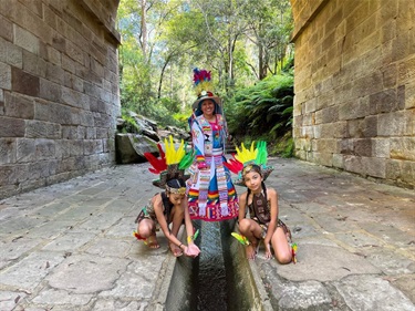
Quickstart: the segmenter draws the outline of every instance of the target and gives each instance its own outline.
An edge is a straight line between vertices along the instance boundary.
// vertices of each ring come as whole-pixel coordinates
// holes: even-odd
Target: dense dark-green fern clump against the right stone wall
[[[269,76],[251,87],[239,90],[229,101],[227,120],[234,136],[261,136],[274,139],[291,131],[293,77]]]

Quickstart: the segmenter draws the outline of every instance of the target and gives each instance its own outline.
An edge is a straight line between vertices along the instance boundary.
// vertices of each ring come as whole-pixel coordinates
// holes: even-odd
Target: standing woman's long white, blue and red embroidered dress
[[[220,221],[238,217],[238,196],[230,172],[224,166],[225,121],[216,114],[209,123],[203,115],[191,122],[195,162],[187,180],[188,209],[191,219]],[[207,167],[201,169],[201,167]]]

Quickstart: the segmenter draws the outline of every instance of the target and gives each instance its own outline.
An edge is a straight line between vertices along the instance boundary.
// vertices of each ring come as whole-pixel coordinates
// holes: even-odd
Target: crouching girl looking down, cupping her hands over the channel
[[[187,209],[185,169],[193,162],[193,154],[185,154],[184,142],[176,151],[173,137],[170,144],[165,139],[166,153],[158,144],[160,158],[156,158],[151,153],[145,153],[145,157],[153,165],[149,170],[159,174],[159,179],[153,184],[165,189],[153,196],[149,203],[141,210],[135,222],[137,231],[134,236],[149,248],[159,248],[156,231],[162,229],[168,239],[172,253],[179,257],[185,253],[188,257],[197,257],[199,248],[194,243],[194,227]],[[187,232],[187,246],[183,243],[177,235],[180,226],[185,222]],[[172,227],[172,228],[170,228]]]

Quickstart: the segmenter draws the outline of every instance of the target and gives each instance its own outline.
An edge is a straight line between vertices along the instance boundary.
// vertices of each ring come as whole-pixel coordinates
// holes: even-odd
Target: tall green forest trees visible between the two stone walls
[[[215,93],[232,106],[230,124],[251,110],[252,128],[276,126],[281,112],[272,105],[283,104],[270,100],[278,85],[269,81],[282,81],[270,76],[287,75],[284,68],[292,64],[289,0],[121,0],[117,27],[123,108],[186,126],[196,97],[193,69],[199,68],[211,71]],[[272,90],[259,92],[256,84]],[[267,95],[255,100],[256,92]],[[264,123],[262,110],[269,114]]]

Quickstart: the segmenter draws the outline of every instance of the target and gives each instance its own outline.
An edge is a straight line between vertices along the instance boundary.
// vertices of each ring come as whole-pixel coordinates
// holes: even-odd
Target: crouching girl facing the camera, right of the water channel
[[[266,187],[264,180],[273,170],[267,166],[267,144],[259,142],[257,148],[248,151],[243,144],[242,151],[237,148],[238,155],[229,160],[227,166],[239,173],[237,185],[248,189],[239,196],[239,235],[235,235],[246,245],[248,259],[255,259],[261,240],[266,248],[266,258],[272,258],[272,251],[280,263],[295,263],[297,245],[291,243],[291,231],[278,218],[278,194],[276,189]],[[249,210],[249,218],[247,212]]]

